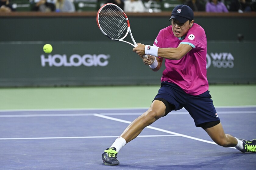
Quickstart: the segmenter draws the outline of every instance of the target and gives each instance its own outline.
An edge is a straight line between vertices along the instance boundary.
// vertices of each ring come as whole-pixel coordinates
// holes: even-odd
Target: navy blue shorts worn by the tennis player
[[[165,115],[172,110],[180,110],[184,107],[194,119],[197,127],[202,127],[207,122],[220,122],[209,91],[198,96],[192,96],[185,93],[178,85],[165,81],[161,83],[161,88],[155,99],[158,100],[157,98],[162,98],[173,106],[166,110]]]

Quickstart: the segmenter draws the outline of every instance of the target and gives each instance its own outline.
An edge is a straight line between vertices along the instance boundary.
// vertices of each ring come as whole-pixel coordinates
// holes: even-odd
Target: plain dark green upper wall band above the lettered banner
[[[154,40],[169,17],[129,17],[134,38]],[[196,17],[210,41],[256,40],[256,17]],[[95,17],[0,17],[1,41],[101,41]]]

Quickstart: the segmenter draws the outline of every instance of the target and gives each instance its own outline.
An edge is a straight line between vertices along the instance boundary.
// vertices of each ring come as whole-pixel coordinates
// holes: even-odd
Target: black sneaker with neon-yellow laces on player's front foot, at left
[[[119,161],[116,159],[116,155],[116,148],[107,148],[101,155],[101,158],[105,165],[118,165]]]

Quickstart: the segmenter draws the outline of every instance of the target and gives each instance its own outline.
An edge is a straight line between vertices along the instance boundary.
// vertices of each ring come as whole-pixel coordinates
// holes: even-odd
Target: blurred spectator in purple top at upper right
[[[205,5],[206,12],[229,12],[221,0],[209,0]]]

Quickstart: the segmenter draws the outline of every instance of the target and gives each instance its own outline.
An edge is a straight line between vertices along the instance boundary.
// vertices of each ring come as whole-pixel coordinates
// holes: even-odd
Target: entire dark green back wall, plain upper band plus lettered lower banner
[[[132,16],[129,20],[135,40],[145,44],[152,44],[159,30],[170,24],[169,17]],[[209,83],[256,83],[256,19],[197,17],[195,22],[207,34]],[[0,17],[0,23],[0,87],[160,82],[164,67],[152,72],[130,45],[105,37],[95,17]],[[244,41],[238,42],[238,33]],[[42,50],[46,43],[53,46],[50,55]],[[76,57],[87,57],[83,60],[87,65],[71,66],[71,56],[75,64],[79,63]],[[42,62],[42,57],[55,57],[57,65]],[[62,63],[65,58],[66,64]],[[105,66],[99,65],[104,62]]]

